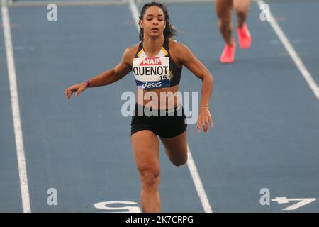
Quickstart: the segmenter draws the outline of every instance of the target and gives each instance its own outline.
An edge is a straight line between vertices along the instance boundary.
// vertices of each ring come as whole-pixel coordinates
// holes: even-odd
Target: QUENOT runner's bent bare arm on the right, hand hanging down
[[[187,67],[196,77],[202,80],[203,85],[201,88],[201,103],[199,105],[197,130],[198,132],[201,131],[201,126],[203,126],[203,130],[206,132],[209,128],[208,122],[211,124],[211,127],[213,127],[211,113],[209,112],[209,101],[213,91],[213,76],[186,45],[178,43],[177,49],[179,50],[177,57],[179,63]]]

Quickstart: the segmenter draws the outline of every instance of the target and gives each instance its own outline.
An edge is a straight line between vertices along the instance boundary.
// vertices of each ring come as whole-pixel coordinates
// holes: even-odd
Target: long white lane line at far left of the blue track
[[[16,85],[16,67],[14,65],[13,48],[11,40],[11,29],[9,12],[6,0],[1,0],[2,23],[4,27],[4,43],[6,47],[6,64],[8,67],[11,109],[13,117],[14,136],[16,140],[16,155],[18,157],[18,170],[20,179],[20,189],[22,197],[22,209],[24,213],[31,212],[30,196],[28,189],[28,177],[26,171],[26,157],[23,148],[23,136],[21,129],[20,109],[18,101],[18,88]]]

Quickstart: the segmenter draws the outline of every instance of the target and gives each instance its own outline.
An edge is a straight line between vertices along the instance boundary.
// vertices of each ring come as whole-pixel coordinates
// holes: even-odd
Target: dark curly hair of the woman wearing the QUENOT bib
[[[162,3],[159,3],[157,1],[152,1],[148,4],[144,4],[142,11],[140,12],[140,21],[144,18],[145,12],[150,6],[157,6],[160,9],[162,9],[162,11],[164,12],[164,17],[166,22],[166,27],[164,28],[164,37],[172,38],[173,36],[176,36],[178,34],[178,30],[169,22],[169,9],[167,8],[167,6],[165,6]],[[138,21],[138,26],[140,26],[140,21]],[[143,35],[144,35],[143,28],[140,27],[140,35],[139,35],[140,40],[143,40]]]

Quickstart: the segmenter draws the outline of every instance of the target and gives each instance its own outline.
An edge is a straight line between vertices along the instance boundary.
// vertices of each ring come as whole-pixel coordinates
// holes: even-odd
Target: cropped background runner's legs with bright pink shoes
[[[232,63],[235,60],[236,43],[232,38],[233,24],[232,11],[233,8],[237,16],[237,35],[240,48],[250,48],[252,38],[245,23],[248,12],[250,11],[251,0],[216,0],[215,9],[218,16],[218,27],[220,33],[225,40],[225,47],[220,55],[220,62]]]

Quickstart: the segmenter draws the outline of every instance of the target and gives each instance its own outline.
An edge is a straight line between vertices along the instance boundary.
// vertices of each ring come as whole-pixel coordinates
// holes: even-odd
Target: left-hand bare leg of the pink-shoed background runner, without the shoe
[[[232,23],[233,0],[216,0],[215,10],[218,16],[218,28],[223,35],[225,43],[233,45]]]

